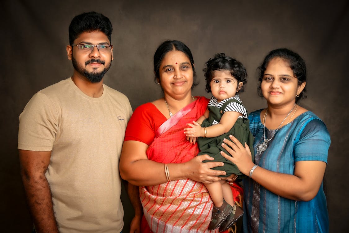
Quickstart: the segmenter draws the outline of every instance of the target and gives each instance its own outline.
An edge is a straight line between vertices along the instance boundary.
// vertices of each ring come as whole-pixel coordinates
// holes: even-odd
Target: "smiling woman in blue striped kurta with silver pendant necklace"
[[[297,102],[304,97],[304,60],[276,49],[259,67],[259,93],[268,107],[250,114],[254,163],[231,137],[221,154],[244,179],[244,232],[328,232],[323,178],[330,145],[325,124]]]

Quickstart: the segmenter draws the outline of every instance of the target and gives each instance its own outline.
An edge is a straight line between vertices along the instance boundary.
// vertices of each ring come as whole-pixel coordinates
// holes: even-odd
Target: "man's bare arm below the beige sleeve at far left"
[[[51,190],[45,177],[51,151],[19,150],[19,155],[22,181],[35,230],[37,233],[58,233]]]

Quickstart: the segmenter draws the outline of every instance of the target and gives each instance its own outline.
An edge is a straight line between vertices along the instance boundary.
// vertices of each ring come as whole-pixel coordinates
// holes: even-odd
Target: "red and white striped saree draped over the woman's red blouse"
[[[199,99],[187,105],[158,128],[147,150],[148,159],[183,163],[198,154],[197,144],[186,140],[184,128],[203,114],[201,102]],[[207,230],[213,202],[201,182],[184,179],[141,187],[140,198],[152,232],[218,232],[218,228]]]

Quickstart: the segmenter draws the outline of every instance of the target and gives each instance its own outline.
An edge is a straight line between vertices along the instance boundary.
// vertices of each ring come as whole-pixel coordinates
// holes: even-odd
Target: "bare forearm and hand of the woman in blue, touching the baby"
[[[224,139],[222,146],[231,156],[224,152],[221,154],[235,163],[240,172],[248,176],[254,165],[250,149],[246,144],[244,147],[235,137],[229,137],[233,142]],[[257,167],[252,179],[281,197],[296,201],[310,201],[319,191],[325,168],[326,162],[316,160],[295,162],[294,174],[273,172]]]

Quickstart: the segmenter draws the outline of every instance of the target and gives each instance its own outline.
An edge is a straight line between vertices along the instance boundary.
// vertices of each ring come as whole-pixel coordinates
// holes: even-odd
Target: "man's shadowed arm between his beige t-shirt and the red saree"
[[[139,198],[139,187],[125,181],[128,197],[134,209],[134,217],[130,225],[130,233],[140,233],[143,207]]]

